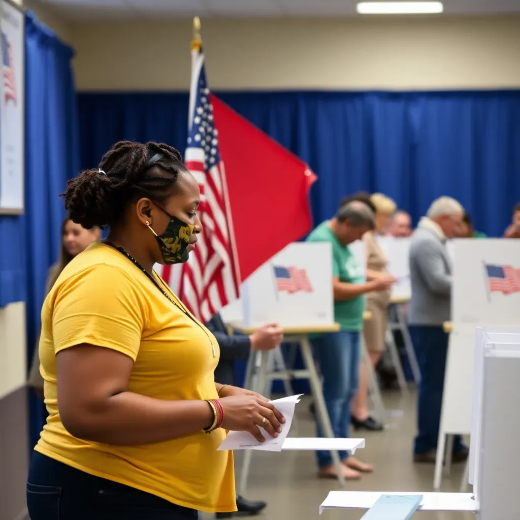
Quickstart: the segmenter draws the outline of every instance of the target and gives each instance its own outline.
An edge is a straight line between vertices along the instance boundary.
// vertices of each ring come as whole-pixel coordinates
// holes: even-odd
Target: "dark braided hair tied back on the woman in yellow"
[[[61,197],[72,222],[103,229],[119,224],[127,205],[141,197],[164,202],[184,170],[171,146],[119,141],[103,155],[99,170],[84,170],[69,180]]]

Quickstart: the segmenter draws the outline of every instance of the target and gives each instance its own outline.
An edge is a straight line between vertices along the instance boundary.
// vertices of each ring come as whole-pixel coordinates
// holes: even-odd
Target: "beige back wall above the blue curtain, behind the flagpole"
[[[186,90],[191,21],[71,26],[80,90]],[[520,17],[203,20],[213,89],[520,86]]]

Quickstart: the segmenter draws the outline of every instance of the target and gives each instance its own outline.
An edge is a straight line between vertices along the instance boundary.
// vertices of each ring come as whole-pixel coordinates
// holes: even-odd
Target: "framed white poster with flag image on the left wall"
[[[0,214],[23,213],[24,178],[24,14],[0,0]]]

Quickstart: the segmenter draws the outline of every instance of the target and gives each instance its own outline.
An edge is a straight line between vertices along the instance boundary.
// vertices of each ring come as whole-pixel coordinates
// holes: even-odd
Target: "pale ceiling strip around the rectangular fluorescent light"
[[[344,17],[357,0],[40,0],[70,19]],[[520,0],[444,0],[445,15],[520,14]]]

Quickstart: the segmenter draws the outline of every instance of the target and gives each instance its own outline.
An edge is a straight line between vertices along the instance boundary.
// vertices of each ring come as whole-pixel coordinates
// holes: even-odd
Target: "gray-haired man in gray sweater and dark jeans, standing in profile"
[[[440,197],[419,222],[410,244],[412,296],[408,321],[421,368],[415,462],[435,462],[448,353],[448,334],[443,323],[451,318],[451,261],[446,240],[457,236],[463,214],[459,202]],[[466,458],[467,448],[457,436],[452,460]]]

